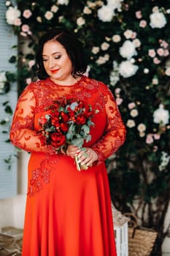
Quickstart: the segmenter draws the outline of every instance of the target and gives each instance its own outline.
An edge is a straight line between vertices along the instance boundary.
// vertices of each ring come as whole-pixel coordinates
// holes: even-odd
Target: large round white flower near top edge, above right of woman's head
[[[115,12],[107,5],[103,5],[100,9],[98,9],[98,19],[103,22],[110,22],[115,15]]]

